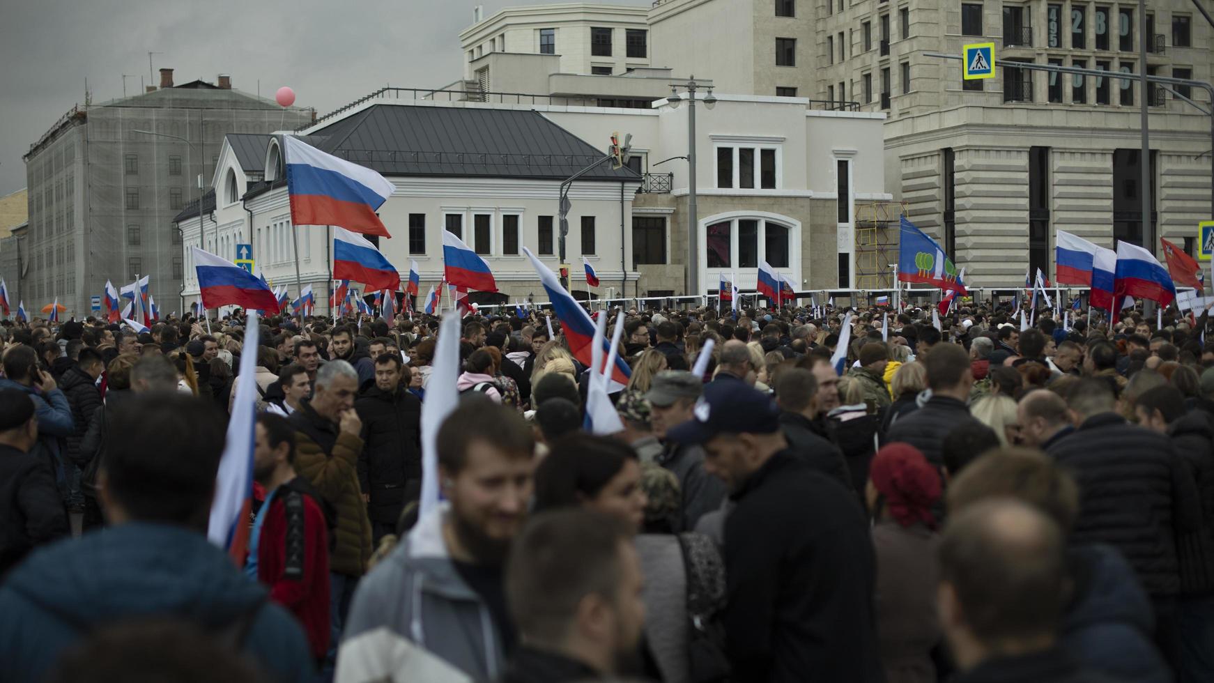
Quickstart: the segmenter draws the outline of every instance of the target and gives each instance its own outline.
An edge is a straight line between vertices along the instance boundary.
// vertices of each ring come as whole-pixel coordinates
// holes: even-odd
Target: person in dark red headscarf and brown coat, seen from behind
[[[931,650],[941,641],[936,615],[936,519],[940,472],[919,449],[877,451],[864,497],[877,550],[877,632],[887,683],[935,683]]]

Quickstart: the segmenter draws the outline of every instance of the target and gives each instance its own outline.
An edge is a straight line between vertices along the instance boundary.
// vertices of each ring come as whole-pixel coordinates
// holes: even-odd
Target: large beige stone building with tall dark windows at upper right
[[[1186,0],[1148,7],[1148,73],[1209,81],[1209,24]],[[728,92],[885,112],[894,194],[971,284],[1012,285],[1029,266],[1053,275],[1056,229],[1157,250],[1164,237],[1193,252],[1214,212],[1210,121],[1176,96],[1148,93],[1155,229],[1144,230],[1136,81],[1002,68],[963,81],[960,62],[924,55],[994,42],[999,59],[1139,73],[1138,2],[658,0],[648,18],[654,66]],[[1204,91],[1179,90],[1210,107]],[[875,243],[896,241],[885,229],[896,217],[866,220]]]

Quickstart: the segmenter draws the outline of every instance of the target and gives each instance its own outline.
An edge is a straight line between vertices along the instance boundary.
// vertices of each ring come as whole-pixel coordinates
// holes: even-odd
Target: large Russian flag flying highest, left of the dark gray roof
[[[340,226],[392,237],[375,215],[395,189],[387,178],[295,137],[283,136],[282,142],[294,226]]]

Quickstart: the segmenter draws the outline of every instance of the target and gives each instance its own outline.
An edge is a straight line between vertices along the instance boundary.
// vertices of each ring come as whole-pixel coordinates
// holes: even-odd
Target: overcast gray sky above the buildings
[[[651,0],[600,0],[648,5]],[[384,85],[439,87],[460,76],[459,32],[543,0],[0,0],[0,197],[25,187],[21,155],[73,104],[104,102],[171,67],[178,84],[215,81],[262,95],[295,89],[324,114]],[[159,75],[155,75],[159,81]]]

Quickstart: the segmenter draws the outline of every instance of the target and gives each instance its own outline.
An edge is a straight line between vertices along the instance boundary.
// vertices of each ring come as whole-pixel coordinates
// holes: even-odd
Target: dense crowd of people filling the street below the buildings
[[[0,683],[1214,681],[1208,313],[629,309],[595,433],[548,315],[463,318],[435,472],[437,318],[4,321]]]

